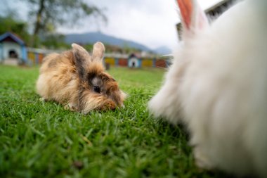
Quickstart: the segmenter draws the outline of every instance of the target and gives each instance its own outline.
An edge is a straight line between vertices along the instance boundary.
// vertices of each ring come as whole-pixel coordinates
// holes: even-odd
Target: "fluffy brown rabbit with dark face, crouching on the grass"
[[[92,56],[82,46],[72,44],[70,51],[46,56],[37,80],[37,93],[45,101],[56,101],[82,113],[123,106],[126,95],[105,72],[104,51],[100,42],[93,45]]]

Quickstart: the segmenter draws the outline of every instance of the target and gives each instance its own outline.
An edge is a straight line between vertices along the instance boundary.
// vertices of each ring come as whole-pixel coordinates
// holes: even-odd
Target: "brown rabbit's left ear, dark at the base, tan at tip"
[[[84,49],[82,46],[79,46],[78,44],[72,44],[72,50],[74,53],[74,61],[79,73],[79,77],[80,79],[83,79],[86,73],[84,67],[86,66],[86,63],[91,60],[91,56],[86,51],[86,49]]]

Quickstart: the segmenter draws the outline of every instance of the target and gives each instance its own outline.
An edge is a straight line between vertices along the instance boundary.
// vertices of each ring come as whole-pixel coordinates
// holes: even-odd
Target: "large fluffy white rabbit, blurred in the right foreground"
[[[267,1],[240,1],[209,25],[178,0],[183,42],[149,103],[190,132],[197,165],[267,177]]]

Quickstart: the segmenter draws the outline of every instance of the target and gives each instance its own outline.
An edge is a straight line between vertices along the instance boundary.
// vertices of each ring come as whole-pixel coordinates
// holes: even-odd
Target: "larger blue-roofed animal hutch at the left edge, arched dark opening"
[[[8,64],[27,63],[27,49],[25,42],[11,32],[1,34],[0,62]]]

